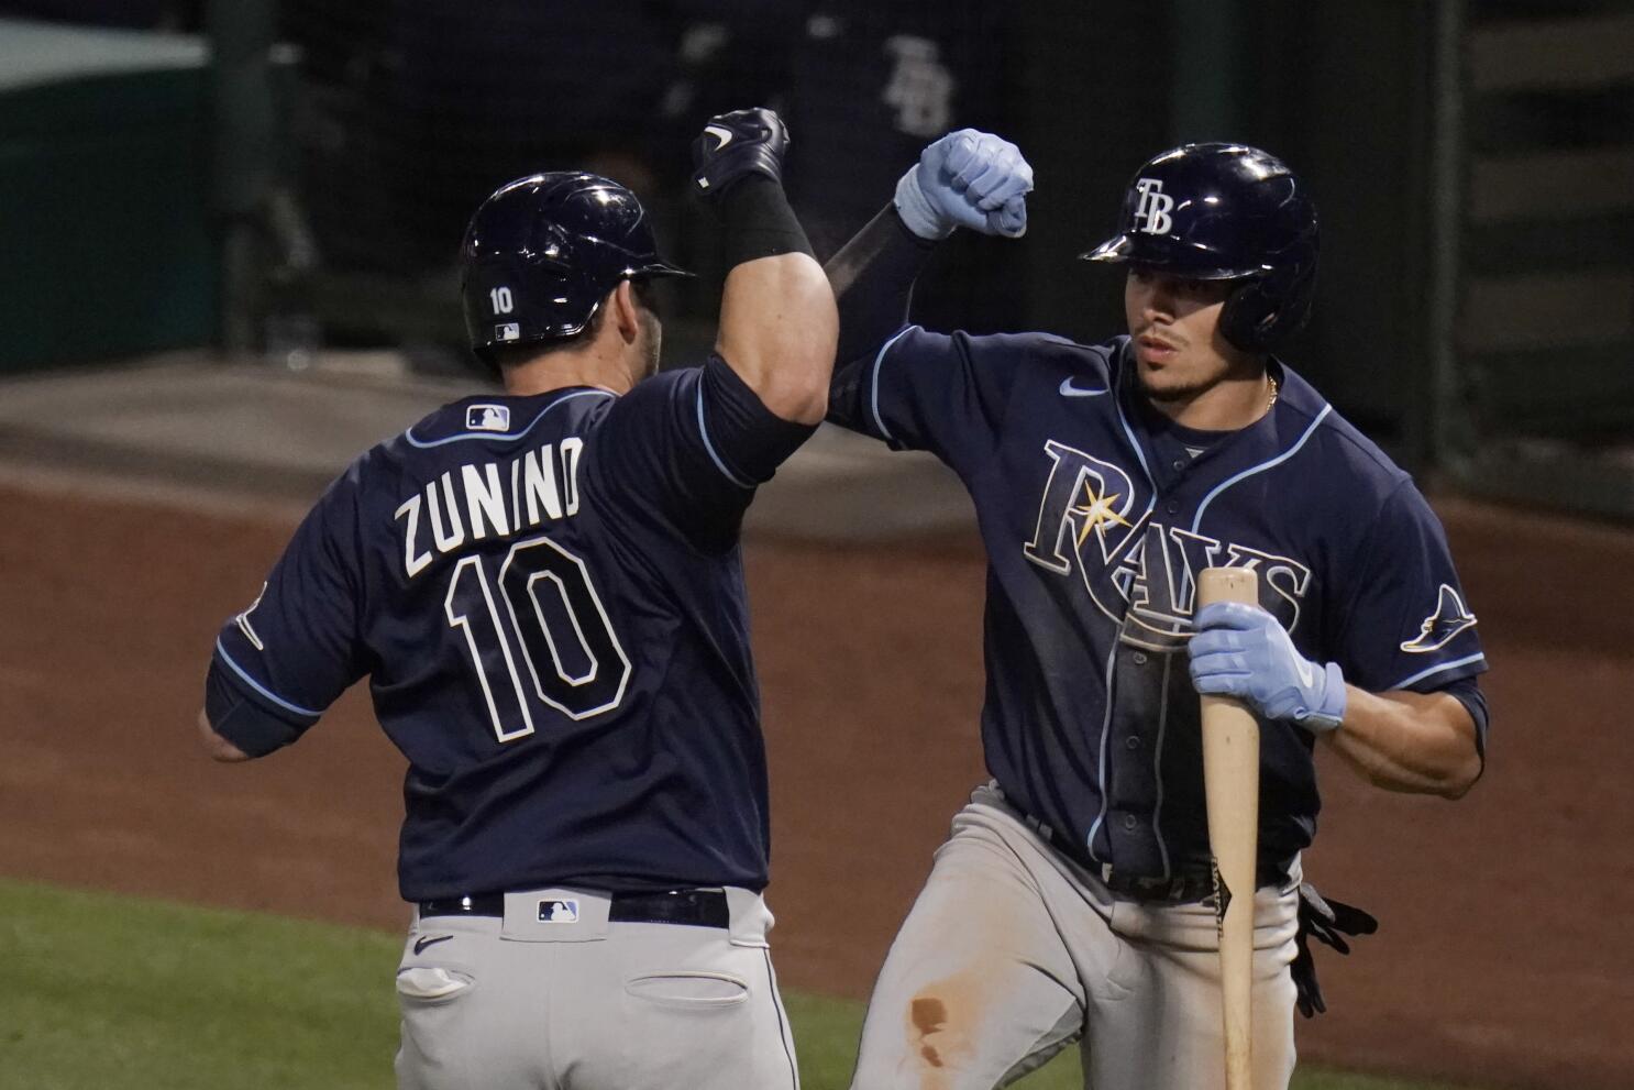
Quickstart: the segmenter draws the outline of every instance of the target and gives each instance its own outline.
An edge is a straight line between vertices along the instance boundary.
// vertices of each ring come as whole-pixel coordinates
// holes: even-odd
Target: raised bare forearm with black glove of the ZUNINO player
[[[730,271],[716,351],[773,413],[819,423],[838,317],[828,279],[783,193],[788,144],[788,129],[770,109],[711,118],[693,144],[693,186],[725,232]]]

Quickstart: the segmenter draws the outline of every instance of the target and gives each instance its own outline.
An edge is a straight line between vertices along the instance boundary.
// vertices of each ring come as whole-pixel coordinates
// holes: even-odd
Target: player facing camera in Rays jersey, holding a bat
[[[946,461],[989,556],[992,783],[891,946],[853,1087],[987,1090],[1080,1038],[1096,1090],[1224,1083],[1199,691],[1260,719],[1255,1085],[1283,1087],[1296,1002],[1320,1008],[1307,933],[1371,925],[1312,897],[1299,927],[1312,748],[1464,794],[1487,732],[1476,616],[1412,479],[1271,355],[1317,258],[1288,167],[1232,144],[1141,167],[1085,255],[1123,266],[1127,335],[904,325],[936,240],[1021,235],[1031,188],[1015,145],[949,134],[828,266],[830,418]],[[1211,565],[1258,572],[1258,605],[1198,611]]]

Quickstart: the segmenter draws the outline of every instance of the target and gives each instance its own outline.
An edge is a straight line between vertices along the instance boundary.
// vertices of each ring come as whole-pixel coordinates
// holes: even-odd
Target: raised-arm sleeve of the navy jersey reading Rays
[[[846,368],[828,418],[962,472],[997,444],[1016,374],[1003,340],[909,325]]]

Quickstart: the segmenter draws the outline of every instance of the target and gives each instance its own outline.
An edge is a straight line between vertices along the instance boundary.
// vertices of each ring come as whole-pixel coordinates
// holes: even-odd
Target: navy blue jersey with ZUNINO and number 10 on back
[[[810,435],[712,358],[623,397],[471,397],[358,458],[221,632],[212,683],[276,716],[369,677],[408,758],[408,900],[766,882],[765,748],[737,547]]]

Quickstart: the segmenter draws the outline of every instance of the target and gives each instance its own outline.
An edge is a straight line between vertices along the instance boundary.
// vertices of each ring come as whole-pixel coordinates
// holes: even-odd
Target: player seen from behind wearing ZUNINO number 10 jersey
[[[217,758],[297,740],[363,675],[408,758],[404,1088],[797,1087],[739,551],[837,337],[786,144],[765,109],[694,144],[729,273],[714,355],[663,374],[647,291],[681,270],[636,196],[493,193],[461,266],[505,392],[358,458],[216,642]]]

